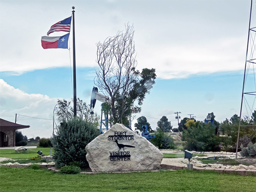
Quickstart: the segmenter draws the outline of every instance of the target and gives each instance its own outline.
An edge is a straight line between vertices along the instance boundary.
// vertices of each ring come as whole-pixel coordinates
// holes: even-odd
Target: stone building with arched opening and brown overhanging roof
[[[15,131],[29,127],[0,119],[0,147],[15,147]]]

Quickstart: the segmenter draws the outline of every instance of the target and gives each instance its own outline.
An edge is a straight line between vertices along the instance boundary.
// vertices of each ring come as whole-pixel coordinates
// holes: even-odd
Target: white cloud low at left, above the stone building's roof
[[[32,135],[47,138],[52,135],[53,122],[46,119],[52,119],[53,108],[57,99],[61,98],[25,93],[0,79],[0,116],[2,119],[15,122],[15,113],[17,113],[18,124],[30,125],[30,128],[22,130],[28,138],[31,138]]]

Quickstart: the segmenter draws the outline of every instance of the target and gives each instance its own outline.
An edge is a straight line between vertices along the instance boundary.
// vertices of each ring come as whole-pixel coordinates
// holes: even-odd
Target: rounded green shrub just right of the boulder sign
[[[161,129],[157,129],[157,131],[155,131],[154,133],[156,137],[150,140],[153,145],[163,149],[175,148],[172,137],[170,137],[167,133],[165,133]]]

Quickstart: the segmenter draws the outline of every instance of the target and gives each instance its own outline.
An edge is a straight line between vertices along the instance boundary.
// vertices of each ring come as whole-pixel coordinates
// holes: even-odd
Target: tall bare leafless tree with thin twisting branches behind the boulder
[[[103,94],[111,98],[114,122],[123,123],[122,116],[128,107],[128,94],[138,80],[133,37],[134,28],[127,24],[125,32],[119,31],[116,36],[108,37],[103,43],[96,44],[96,62],[100,69],[96,70],[94,83]]]

